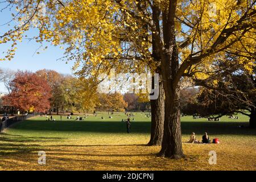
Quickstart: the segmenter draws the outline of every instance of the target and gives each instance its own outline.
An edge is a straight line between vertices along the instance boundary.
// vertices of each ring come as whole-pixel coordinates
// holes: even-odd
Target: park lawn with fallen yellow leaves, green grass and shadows
[[[111,114],[110,114],[111,115]],[[101,117],[104,119],[101,119]],[[16,123],[0,134],[0,169],[38,170],[216,170],[256,169],[256,130],[249,129],[249,118],[222,117],[220,122],[205,118],[181,117],[183,149],[187,158],[170,160],[156,158],[160,147],[147,147],[150,121],[144,113],[135,113],[131,133],[126,133],[124,113],[90,115],[84,121],[67,119],[55,122],[35,117]],[[76,116],[73,116],[75,118]],[[132,120],[133,117],[131,117]],[[243,125],[240,128],[238,126]],[[204,132],[210,139],[218,137],[220,144],[186,143],[192,132],[201,139]],[[214,150],[218,163],[208,163],[208,153]],[[47,165],[37,163],[38,151],[46,151]]]

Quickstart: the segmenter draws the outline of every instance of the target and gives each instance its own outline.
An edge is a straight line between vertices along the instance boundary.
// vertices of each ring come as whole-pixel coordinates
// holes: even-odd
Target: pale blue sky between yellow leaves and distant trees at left
[[[4,24],[11,19],[10,11],[4,11],[0,16],[0,24]],[[0,26],[0,34],[6,30],[6,26]],[[32,37],[36,35],[38,30],[30,30],[26,35]],[[44,43],[43,47],[48,46],[45,51],[40,51],[40,54],[36,54],[37,49],[40,47],[39,43],[35,41],[28,41],[23,39],[22,43],[17,45],[17,50],[14,59],[11,61],[0,61],[1,69],[11,69],[11,70],[28,70],[28,71],[38,71],[39,69],[53,69],[59,73],[72,74],[71,68],[73,63],[68,64],[65,61],[60,61],[60,57],[63,56],[64,50],[59,47],[52,46],[50,43]],[[0,57],[3,57],[2,52],[8,49],[8,45],[0,44]],[[0,92],[6,92],[3,84],[0,83]]]

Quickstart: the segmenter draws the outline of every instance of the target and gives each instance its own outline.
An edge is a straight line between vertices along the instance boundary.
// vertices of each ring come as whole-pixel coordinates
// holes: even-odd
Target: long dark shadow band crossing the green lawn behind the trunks
[[[244,127],[238,127],[238,126]],[[210,135],[256,135],[255,129],[248,128],[249,122],[181,122],[182,134],[189,135],[192,132]],[[149,134],[150,122],[131,122],[132,134]],[[18,130],[29,131],[61,131],[83,133],[126,133],[124,122],[92,122],[92,121],[24,121],[13,127]],[[40,139],[40,138],[38,138]],[[44,138],[41,138],[44,139]],[[47,139],[47,138],[45,138]],[[52,138],[59,139],[59,138]]]

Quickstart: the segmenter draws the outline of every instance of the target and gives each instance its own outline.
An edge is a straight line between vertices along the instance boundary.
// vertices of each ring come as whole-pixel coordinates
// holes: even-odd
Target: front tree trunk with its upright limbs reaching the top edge
[[[168,7],[162,10],[162,35],[158,2],[153,1],[152,20],[156,32],[152,34],[152,46],[156,46],[160,60],[160,75],[163,78],[165,93],[164,134],[159,156],[179,159],[184,157],[181,142],[180,103],[179,103],[179,70],[178,49],[175,42],[175,12],[177,0],[169,1]],[[155,12],[155,16],[154,16]],[[154,51],[154,49],[153,49]]]

